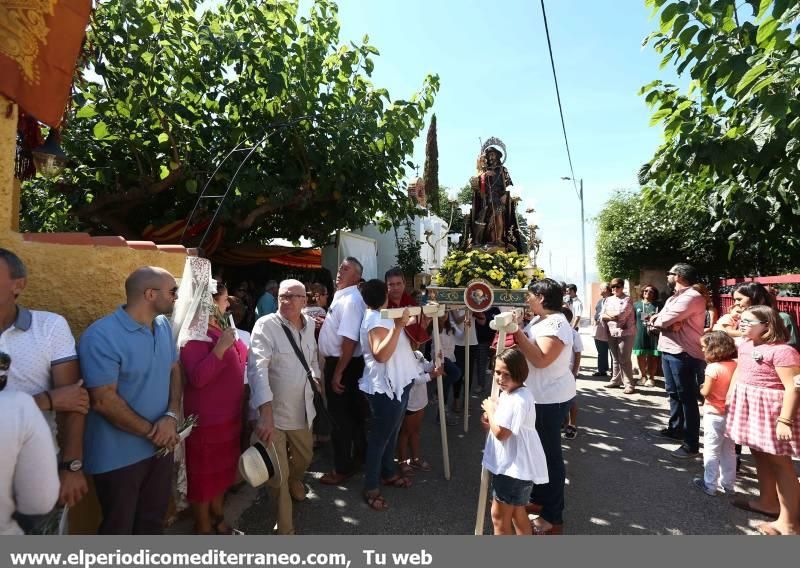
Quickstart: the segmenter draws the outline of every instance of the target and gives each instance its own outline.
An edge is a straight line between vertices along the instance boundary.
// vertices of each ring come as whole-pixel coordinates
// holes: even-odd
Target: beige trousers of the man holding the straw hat
[[[278,534],[294,534],[292,521],[292,496],[289,483],[303,483],[306,469],[314,454],[314,440],[311,430],[278,430],[272,432],[275,451],[283,472],[280,488],[270,489],[270,494],[278,502]]]

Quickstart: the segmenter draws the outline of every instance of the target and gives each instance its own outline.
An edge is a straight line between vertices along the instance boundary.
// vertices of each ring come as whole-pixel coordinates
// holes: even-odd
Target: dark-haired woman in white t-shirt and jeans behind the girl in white
[[[551,278],[531,282],[528,306],[534,318],[514,334],[528,360],[525,385],[536,401],[536,431],[547,458],[549,483],[534,485],[530,511],[538,512],[534,534],[561,534],[564,528],[564,456],[561,425],[575,398],[575,377],[570,369],[572,327],[561,313],[561,284]]]

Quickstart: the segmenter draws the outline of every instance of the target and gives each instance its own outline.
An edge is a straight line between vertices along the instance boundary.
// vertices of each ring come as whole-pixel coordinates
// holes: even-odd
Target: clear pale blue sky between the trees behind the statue
[[[301,3],[301,7],[307,2]],[[636,172],[659,145],[639,88],[661,56],[642,48],[655,29],[644,0],[549,0],[550,35],[575,175],[584,179],[586,218],[615,189],[636,188]],[[540,4],[536,0],[339,0],[341,40],[368,34],[381,52],[373,81],[407,98],[438,73],[439,181],[474,175],[479,140],[508,147],[507,167],[523,207],[537,210],[539,265],[580,282],[579,206],[569,176]],[[424,162],[425,137],[414,160]],[[587,272],[595,272],[595,226],[587,222]],[[552,262],[550,260],[552,253]]]

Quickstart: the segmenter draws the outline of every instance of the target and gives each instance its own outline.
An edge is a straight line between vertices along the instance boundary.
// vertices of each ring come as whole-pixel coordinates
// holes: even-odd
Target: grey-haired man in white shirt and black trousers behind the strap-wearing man
[[[366,305],[358,290],[363,267],[347,257],[336,273],[336,293],[319,332],[319,350],[325,357],[325,394],[333,423],[334,470],[322,476],[326,485],[340,485],[356,470],[356,456],[366,449],[364,406],[358,380],[364,372],[359,345]]]

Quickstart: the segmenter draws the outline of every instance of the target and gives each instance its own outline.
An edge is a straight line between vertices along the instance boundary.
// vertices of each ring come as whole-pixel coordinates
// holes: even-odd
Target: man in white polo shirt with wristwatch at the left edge
[[[83,430],[89,395],[80,381],[75,339],[58,314],[17,304],[27,270],[0,248],[0,351],[11,356],[8,390],[31,395],[59,453],[59,503],[73,506],[88,491],[83,475]]]

